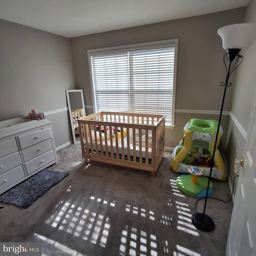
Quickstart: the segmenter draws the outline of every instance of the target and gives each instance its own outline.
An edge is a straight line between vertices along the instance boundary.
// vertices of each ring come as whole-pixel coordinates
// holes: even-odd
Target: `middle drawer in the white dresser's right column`
[[[48,139],[48,140],[40,142],[34,146],[26,148],[26,149],[22,150],[21,152],[22,152],[24,162],[28,162],[29,160],[36,158],[36,157],[50,151],[51,149],[53,149],[52,139]]]

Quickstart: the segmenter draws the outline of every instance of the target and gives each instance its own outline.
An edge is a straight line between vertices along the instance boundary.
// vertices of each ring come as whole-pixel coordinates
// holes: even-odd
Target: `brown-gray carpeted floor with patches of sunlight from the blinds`
[[[208,200],[212,232],[191,222],[194,198],[178,190],[180,174],[165,152],[156,177],[150,172],[90,161],[80,144],[58,151],[51,170],[70,175],[28,209],[0,209],[1,242],[41,242],[44,256],[224,256],[232,202]],[[227,181],[212,180],[212,197],[228,201]],[[204,200],[197,211],[203,211]],[[2,204],[0,204],[2,206]]]

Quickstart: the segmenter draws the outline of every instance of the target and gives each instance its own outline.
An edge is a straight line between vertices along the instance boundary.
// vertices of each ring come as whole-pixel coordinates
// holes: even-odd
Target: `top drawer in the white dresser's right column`
[[[21,149],[28,148],[30,146],[33,146],[35,144],[38,144],[39,142],[42,142],[50,138],[51,138],[50,128],[46,128],[46,129],[38,130],[36,132],[30,132],[30,133],[18,136]]]

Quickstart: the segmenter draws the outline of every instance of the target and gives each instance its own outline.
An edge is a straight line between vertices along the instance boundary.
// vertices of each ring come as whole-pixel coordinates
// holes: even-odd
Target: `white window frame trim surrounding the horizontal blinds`
[[[154,48],[156,47],[156,48]],[[92,93],[92,105],[93,111],[96,112],[96,98],[94,92],[94,84],[92,80],[92,63],[91,63],[91,56],[95,56],[98,54],[114,54],[120,53],[120,51],[135,51],[135,50],[150,50],[150,49],[157,49],[157,48],[170,48],[174,47],[174,71],[173,71],[173,86],[172,86],[172,118],[171,124],[166,124],[171,128],[174,127],[174,120],[175,120],[175,100],[176,100],[176,73],[177,73],[177,64],[178,64],[178,39],[171,39],[171,40],[162,40],[162,41],[155,41],[155,42],[146,42],[146,43],[139,43],[139,44],[131,44],[125,46],[113,46],[107,48],[98,48],[87,50],[88,56],[88,64],[89,64],[89,73],[90,73],[90,85],[91,85],[91,93]]]

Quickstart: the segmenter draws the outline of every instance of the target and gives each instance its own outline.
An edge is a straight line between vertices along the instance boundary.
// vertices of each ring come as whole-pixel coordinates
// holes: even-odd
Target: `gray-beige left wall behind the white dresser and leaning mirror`
[[[0,120],[66,108],[74,88],[69,38],[0,19]],[[72,140],[68,111],[47,118],[56,147]]]

